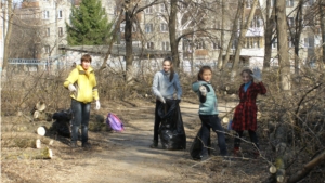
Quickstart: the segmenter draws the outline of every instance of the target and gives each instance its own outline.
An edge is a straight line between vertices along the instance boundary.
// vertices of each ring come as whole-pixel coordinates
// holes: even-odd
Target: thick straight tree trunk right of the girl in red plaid
[[[277,53],[281,75],[281,89],[290,90],[290,61],[288,55],[288,36],[286,1],[276,1],[276,34],[277,34]]]

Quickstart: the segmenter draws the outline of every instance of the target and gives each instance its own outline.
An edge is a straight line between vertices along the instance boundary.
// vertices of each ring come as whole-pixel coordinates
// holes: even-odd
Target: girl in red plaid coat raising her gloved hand
[[[250,69],[242,71],[243,84],[239,88],[239,104],[235,108],[232,129],[237,132],[234,140],[234,154],[239,153],[240,138],[244,130],[248,130],[250,141],[255,144],[257,151],[256,156],[259,156],[259,141],[256,133],[257,130],[257,105],[256,99],[258,94],[265,94],[266,89],[262,82],[259,68],[255,68],[253,73]],[[256,82],[253,82],[253,79]]]

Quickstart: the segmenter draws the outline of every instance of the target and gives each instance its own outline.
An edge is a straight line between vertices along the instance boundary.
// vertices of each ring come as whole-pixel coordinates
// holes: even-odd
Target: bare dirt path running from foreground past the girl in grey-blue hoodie
[[[197,105],[181,103],[183,121],[187,134],[196,133]],[[136,109],[125,108],[131,120],[122,133],[110,133],[103,141],[113,144],[112,151],[92,151],[83,165],[73,167],[67,182],[202,182],[203,173],[191,166],[188,151],[164,151],[150,148],[153,139],[154,106]],[[123,117],[125,118],[125,117]],[[187,148],[193,136],[187,135]],[[95,140],[92,140],[95,141]],[[87,153],[87,152],[86,152]],[[195,171],[194,171],[195,170]],[[91,175],[90,175],[91,174]],[[191,175],[192,174],[192,175]]]

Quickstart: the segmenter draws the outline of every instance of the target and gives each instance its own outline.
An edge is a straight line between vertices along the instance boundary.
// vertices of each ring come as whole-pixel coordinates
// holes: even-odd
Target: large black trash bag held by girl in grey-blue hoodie
[[[186,149],[186,134],[180,109],[180,100],[166,100],[158,106],[161,118],[160,142],[166,149]]]

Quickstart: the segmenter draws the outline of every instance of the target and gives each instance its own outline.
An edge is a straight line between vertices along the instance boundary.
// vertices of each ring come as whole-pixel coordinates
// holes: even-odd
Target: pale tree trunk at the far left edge
[[[13,10],[12,10],[12,0],[8,0],[8,19],[4,18],[4,24],[6,21],[6,26],[5,30],[5,38],[4,38],[4,48],[3,48],[3,64],[2,64],[2,78],[5,79],[6,77],[6,67],[8,67],[8,58],[9,58],[9,43],[10,43],[10,38],[11,38],[11,32],[12,32],[12,17],[13,17]],[[5,16],[5,14],[4,14]]]

